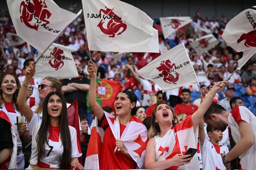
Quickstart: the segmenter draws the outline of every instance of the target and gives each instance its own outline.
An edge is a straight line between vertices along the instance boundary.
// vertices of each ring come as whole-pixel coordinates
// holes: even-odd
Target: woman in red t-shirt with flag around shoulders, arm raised
[[[137,166],[141,168],[144,164],[148,132],[146,126],[131,115],[135,114],[136,95],[128,90],[117,94],[114,103],[117,115],[115,117],[103,111],[96,102],[97,69],[92,60],[88,62],[88,73],[91,76],[88,103],[99,120],[98,126],[104,130],[103,145],[99,153],[99,169],[136,169]]]

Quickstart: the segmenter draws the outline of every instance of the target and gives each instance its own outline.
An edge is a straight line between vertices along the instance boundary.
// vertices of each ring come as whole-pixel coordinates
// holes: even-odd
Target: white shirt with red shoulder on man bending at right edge
[[[250,124],[254,135],[254,144],[248,151],[239,156],[240,165],[243,170],[255,170],[256,167],[256,116],[244,106],[238,106],[232,109],[229,114],[229,127],[232,138],[236,144],[242,139],[239,131],[239,121],[243,120]]]

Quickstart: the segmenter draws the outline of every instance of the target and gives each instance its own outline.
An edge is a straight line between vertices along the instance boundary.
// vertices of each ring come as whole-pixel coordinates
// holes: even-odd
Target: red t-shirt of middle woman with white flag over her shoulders
[[[128,170],[136,169],[137,163],[126,157],[121,151],[115,151],[115,137],[108,125],[108,120],[103,115],[101,123],[104,129],[103,145],[100,158],[101,170]],[[125,129],[125,125],[120,124],[120,136]],[[115,152],[114,152],[115,151]]]

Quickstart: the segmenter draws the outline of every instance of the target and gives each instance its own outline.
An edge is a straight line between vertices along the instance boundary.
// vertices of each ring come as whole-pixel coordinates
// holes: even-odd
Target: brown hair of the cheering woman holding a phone
[[[155,113],[156,113],[156,107],[158,107],[159,105],[161,104],[166,104],[168,105],[167,102],[165,101],[159,101],[158,103],[155,104],[155,107],[154,107],[154,111],[152,113],[152,122],[151,122],[151,126],[152,126],[152,132],[150,134],[150,138],[153,138],[155,135],[158,135],[161,133],[161,130],[160,130],[160,127],[159,125],[155,125]],[[175,113],[174,113],[174,110],[173,108],[168,105],[170,108],[171,108],[171,111],[172,111],[172,114],[173,114],[173,121],[172,121],[172,126],[174,127],[175,125],[177,125],[177,123],[179,122],[179,120],[177,119],[177,117],[175,116]]]

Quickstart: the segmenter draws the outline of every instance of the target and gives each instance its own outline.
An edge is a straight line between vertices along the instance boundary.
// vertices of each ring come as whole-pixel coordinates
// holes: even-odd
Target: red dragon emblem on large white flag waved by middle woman
[[[104,13],[108,16],[107,19],[109,17],[110,19],[106,28],[104,28],[103,26],[106,18],[101,19],[100,23],[97,25],[104,34],[110,35],[108,36],[109,38],[114,38],[116,35],[121,35],[127,28],[127,25],[123,23],[121,18],[118,17],[112,10],[113,9],[109,8],[107,8],[106,10],[100,9],[99,15],[101,15],[101,13]]]

